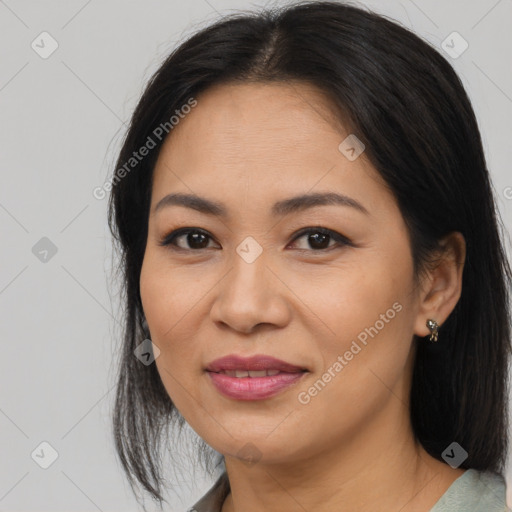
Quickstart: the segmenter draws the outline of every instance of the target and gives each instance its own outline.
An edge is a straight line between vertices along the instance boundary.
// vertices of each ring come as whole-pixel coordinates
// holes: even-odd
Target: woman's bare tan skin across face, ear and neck
[[[426,320],[442,325],[455,307],[463,237],[445,239],[438,266],[415,286],[397,203],[364,153],[349,161],[338,150],[350,132],[319,91],[246,83],[216,86],[197,99],[156,164],[140,289],[169,396],[225,456],[231,493],[222,511],[430,510],[464,471],[414,440],[413,334],[429,335]],[[222,202],[229,216],[176,205],[154,212],[176,192]],[[271,215],[274,202],[307,192],[347,195],[368,214],[328,205]],[[183,227],[207,231],[207,247],[191,246],[186,235],[175,241],[181,251],[159,245]],[[353,245],[327,238],[328,249],[318,249],[314,238],[295,235],[308,227],[333,230]],[[262,248],[252,263],[236,251],[247,236]],[[300,403],[298,394],[395,303],[401,311]],[[273,398],[227,398],[204,368],[233,353],[269,354],[309,373]],[[254,464],[239,454],[248,446],[256,447]]]

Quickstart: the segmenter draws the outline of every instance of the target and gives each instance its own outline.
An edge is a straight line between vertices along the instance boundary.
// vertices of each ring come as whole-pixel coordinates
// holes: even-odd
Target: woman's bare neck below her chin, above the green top
[[[464,471],[415,441],[408,413],[392,396],[370,426],[314,456],[252,466],[226,456],[231,492],[222,512],[430,510]]]

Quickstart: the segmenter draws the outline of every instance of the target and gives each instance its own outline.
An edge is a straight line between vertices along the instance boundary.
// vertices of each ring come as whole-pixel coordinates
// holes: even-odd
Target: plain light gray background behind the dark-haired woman
[[[453,31],[468,42],[447,58],[476,109],[510,231],[512,1],[362,4],[441,52]],[[163,57],[220,15],[264,5],[0,1],[0,512],[137,510],[110,439],[119,304],[109,291],[107,200],[92,191],[112,172],[124,123]],[[46,59],[31,47],[51,49],[43,31],[59,45]],[[48,469],[31,457],[44,441],[58,452]],[[185,510],[212,483],[187,468],[167,495],[171,510]]]

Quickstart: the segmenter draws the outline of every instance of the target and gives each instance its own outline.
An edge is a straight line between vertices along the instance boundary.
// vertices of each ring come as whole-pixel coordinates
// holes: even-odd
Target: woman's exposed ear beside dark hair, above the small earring
[[[430,334],[427,320],[431,318],[440,326],[453,311],[462,292],[462,272],[466,260],[466,241],[458,231],[441,240],[441,251],[421,283],[418,314],[414,334],[424,337]]]

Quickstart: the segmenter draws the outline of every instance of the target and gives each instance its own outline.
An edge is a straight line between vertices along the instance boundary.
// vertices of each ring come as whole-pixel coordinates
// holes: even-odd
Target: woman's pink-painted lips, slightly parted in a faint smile
[[[264,377],[236,377],[220,372],[279,371]],[[224,396],[236,400],[271,398],[301,380],[308,370],[271,356],[240,357],[229,355],[212,361],[206,368],[211,382]]]

